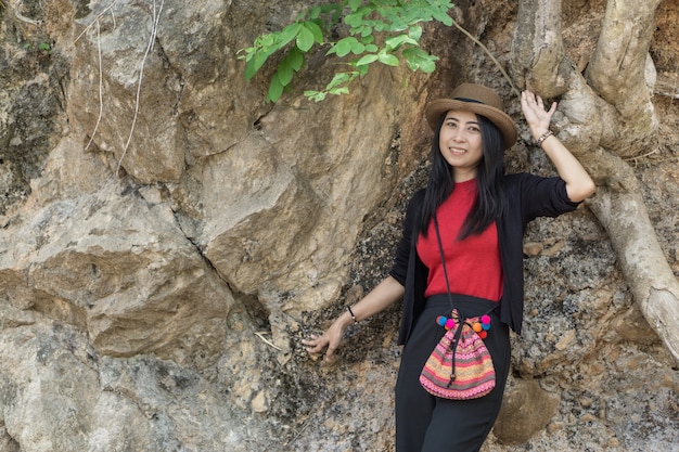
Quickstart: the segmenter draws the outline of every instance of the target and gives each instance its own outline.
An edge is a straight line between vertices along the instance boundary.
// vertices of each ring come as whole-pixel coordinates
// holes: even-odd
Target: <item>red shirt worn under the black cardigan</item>
[[[436,210],[450,292],[499,301],[503,281],[496,223],[481,234],[472,234],[463,241],[458,238],[475,198],[476,180],[460,182]],[[446,294],[434,221],[430,223],[426,237],[420,234],[417,246],[420,259],[430,270],[425,297]]]

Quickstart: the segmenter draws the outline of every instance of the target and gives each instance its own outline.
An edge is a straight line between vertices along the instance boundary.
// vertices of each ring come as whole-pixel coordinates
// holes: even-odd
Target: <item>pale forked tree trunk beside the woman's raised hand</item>
[[[606,229],[636,301],[679,362],[679,282],[623,158],[645,153],[657,130],[646,74],[659,0],[608,0],[585,77],[563,51],[561,2],[521,0],[511,73],[543,98],[562,95],[559,138],[599,185],[587,205]]]

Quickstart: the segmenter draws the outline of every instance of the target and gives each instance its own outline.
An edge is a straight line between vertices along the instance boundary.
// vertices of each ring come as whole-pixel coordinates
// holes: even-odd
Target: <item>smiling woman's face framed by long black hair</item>
[[[452,167],[456,182],[476,177],[476,167],[484,156],[481,126],[472,112],[451,109],[440,127],[438,135],[440,153]]]

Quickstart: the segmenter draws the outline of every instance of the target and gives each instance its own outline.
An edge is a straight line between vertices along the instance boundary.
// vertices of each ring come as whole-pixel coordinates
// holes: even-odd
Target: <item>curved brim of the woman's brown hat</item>
[[[437,99],[427,105],[425,117],[432,130],[436,131],[440,116],[451,109],[464,109],[488,118],[500,130],[505,150],[516,142],[516,126],[507,113],[486,104],[454,99]]]

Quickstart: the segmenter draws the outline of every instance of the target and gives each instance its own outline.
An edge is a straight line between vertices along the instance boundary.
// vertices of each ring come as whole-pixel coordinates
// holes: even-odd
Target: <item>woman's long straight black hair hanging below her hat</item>
[[[436,133],[432,139],[432,171],[426,186],[424,202],[420,209],[419,230],[427,235],[430,222],[434,218],[436,208],[452,193],[454,176],[452,167],[444,158],[438,145],[440,129],[446,114],[438,120]],[[483,157],[476,170],[477,196],[467,217],[464,219],[459,240],[472,234],[479,234],[494,221],[500,218],[504,209],[504,192],[502,177],[504,176],[504,146],[500,130],[488,118],[476,115],[481,127]]]

